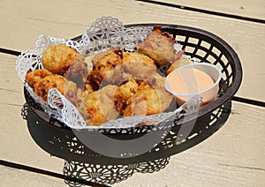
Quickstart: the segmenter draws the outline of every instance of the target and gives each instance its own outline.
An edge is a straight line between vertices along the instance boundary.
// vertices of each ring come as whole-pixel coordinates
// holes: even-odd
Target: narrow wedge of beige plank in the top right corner
[[[265,3],[261,0],[247,1],[247,0],[234,0],[234,1],[213,1],[205,0],[155,0],[153,2],[163,2],[168,4],[178,4],[187,7],[193,7],[207,11],[217,11],[242,17],[265,19]]]

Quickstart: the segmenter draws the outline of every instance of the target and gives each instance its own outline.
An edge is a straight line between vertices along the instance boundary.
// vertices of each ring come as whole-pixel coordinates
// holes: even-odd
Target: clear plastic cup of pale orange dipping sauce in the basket
[[[178,106],[194,95],[201,95],[201,106],[215,101],[219,90],[221,70],[214,64],[194,63],[181,66],[166,77],[165,88],[172,93]]]

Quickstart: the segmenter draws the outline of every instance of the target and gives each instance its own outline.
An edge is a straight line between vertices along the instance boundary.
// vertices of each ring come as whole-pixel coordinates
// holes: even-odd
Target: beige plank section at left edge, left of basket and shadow
[[[0,158],[61,172],[64,161],[50,156],[34,142],[27,121],[21,116],[25,99],[22,81],[15,70],[15,59],[16,56],[0,54]]]

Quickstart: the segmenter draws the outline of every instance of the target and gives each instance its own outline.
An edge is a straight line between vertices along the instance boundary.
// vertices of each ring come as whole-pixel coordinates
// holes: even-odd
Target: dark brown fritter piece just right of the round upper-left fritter
[[[84,56],[76,56],[71,66],[64,73],[64,78],[77,84],[81,89],[84,89],[87,81],[88,70]]]

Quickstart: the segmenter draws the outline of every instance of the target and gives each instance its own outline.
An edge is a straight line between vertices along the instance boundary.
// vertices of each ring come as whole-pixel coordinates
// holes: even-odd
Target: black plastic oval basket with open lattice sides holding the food
[[[125,27],[134,26],[162,26],[163,32],[172,34],[182,45],[183,49],[186,49],[186,55],[193,57],[198,62],[205,62],[209,64],[216,64],[223,73],[223,78],[220,81],[220,90],[218,93],[218,99],[204,108],[199,110],[197,118],[206,116],[213,112],[216,108],[220,108],[224,103],[230,101],[235,93],[237,93],[239,86],[242,81],[242,67],[239,61],[239,56],[231,48],[231,46],[223,41],[220,37],[215,34],[211,34],[207,31],[193,28],[189,26],[178,26],[178,25],[166,25],[166,24],[133,24],[126,25]],[[81,36],[74,38],[73,40],[79,41]],[[166,71],[166,67],[162,67]],[[67,128],[63,123],[57,122],[50,116],[43,116],[40,113],[40,108],[34,103],[34,100],[30,98],[30,95],[25,92],[27,103],[29,107],[33,108],[36,115],[40,116],[45,122],[55,124],[61,128]],[[193,120],[193,118],[191,118]],[[179,123],[178,123],[179,125]],[[70,128],[69,128],[70,129]],[[152,129],[152,125],[133,127],[125,129],[127,134],[139,134]],[[121,130],[113,129],[104,131],[107,133],[112,131],[111,134],[120,134]],[[113,133],[113,131],[115,133]],[[123,132],[124,134],[124,132]],[[126,133],[125,133],[126,134]]]

